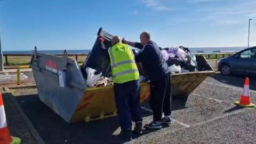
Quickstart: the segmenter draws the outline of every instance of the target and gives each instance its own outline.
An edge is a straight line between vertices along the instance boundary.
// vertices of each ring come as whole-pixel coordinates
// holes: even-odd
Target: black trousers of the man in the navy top
[[[150,107],[153,110],[153,121],[160,122],[162,113],[171,115],[171,73],[165,74],[156,81],[150,82]]]

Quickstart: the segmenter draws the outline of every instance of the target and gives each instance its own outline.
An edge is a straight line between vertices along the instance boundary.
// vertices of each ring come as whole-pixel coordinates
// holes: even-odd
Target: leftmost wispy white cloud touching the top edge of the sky
[[[174,9],[171,9],[170,7],[165,6],[161,0],[138,0],[137,2],[145,5],[146,7],[152,9],[153,11],[174,10]]]

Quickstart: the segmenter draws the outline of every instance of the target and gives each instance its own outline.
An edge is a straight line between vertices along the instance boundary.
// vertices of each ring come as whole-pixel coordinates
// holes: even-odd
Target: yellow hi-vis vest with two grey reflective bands
[[[114,83],[121,84],[139,79],[139,70],[130,46],[119,42],[109,47],[108,53]]]

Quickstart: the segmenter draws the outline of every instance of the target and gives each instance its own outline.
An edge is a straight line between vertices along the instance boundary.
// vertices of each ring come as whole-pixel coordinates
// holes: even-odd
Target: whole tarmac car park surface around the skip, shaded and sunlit
[[[256,83],[253,78],[250,80],[251,97],[256,102]],[[173,124],[164,125],[157,131],[144,130],[143,135],[133,135],[134,139],[128,143],[256,143],[255,109],[243,109],[232,104],[240,99],[243,84],[244,78],[241,77],[229,78],[218,74],[208,77],[187,101],[173,99]],[[36,89],[12,92],[19,96],[20,106],[45,143],[125,142],[118,137],[117,117],[68,124],[39,100]],[[152,120],[152,112],[147,102],[142,107],[143,123],[146,124]],[[15,126],[12,129],[15,130]],[[24,133],[27,133],[26,129]]]

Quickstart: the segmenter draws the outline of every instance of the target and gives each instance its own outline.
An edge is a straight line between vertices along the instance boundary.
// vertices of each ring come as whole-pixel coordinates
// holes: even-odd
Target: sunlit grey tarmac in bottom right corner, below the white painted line
[[[256,143],[256,111],[221,117],[177,132],[164,131],[131,143]]]

